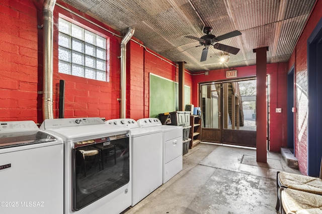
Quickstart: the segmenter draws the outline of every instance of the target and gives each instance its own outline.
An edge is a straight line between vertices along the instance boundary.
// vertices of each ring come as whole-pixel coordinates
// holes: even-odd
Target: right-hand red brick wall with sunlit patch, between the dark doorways
[[[307,120],[309,119],[307,118],[307,39],[322,18],[321,11],[322,1],[317,0],[288,63],[288,70],[294,66],[296,76],[295,156],[302,174],[307,174]]]

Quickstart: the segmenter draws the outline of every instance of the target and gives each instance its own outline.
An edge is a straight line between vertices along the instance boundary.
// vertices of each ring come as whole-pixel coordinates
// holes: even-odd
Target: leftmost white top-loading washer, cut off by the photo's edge
[[[0,213],[63,213],[62,139],[34,121],[0,124]]]

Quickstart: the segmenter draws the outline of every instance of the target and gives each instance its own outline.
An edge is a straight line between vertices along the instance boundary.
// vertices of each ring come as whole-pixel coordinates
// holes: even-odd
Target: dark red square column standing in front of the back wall
[[[266,104],[266,73],[267,60],[266,52],[268,47],[254,49],[256,52],[256,79],[257,79],[257,96],[256,96],[256,159],[257,162],[267,162],[267,104]]]

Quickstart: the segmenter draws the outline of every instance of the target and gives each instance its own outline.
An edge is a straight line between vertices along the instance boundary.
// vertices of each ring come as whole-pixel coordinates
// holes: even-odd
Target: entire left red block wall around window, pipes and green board
[[[112,35],[96,25],[59,8],[54,10],[53,47],[53,113],[58,117],[59,80],[65,80],[65,117],[120,116],[120,37],[109,26],[74,8],[57,1],[95,24],[112,31]],[[0,120],[34,120],[42,123],[42,24],[43,1],[7,0],[0,3]],[[108,69],[110,82],[95,81],[58,73],[59,14],[109,37]],[[133,37],[133,39],[135,39]],[[130,41],[127,45],[127,102],[126,116],[139,119],[148,117],[149,73],[178,81],[176,64],[146,54],[143,46]],[[186,73],[186,85],[191,87],[191,75]],[[191,90],[192,91],[192,90]]]

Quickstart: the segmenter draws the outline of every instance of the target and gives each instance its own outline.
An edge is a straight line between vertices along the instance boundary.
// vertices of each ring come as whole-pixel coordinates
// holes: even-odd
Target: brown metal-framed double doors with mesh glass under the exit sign
[[[256,147],[256,79],[207,83],[200,90],[201,140]]]

